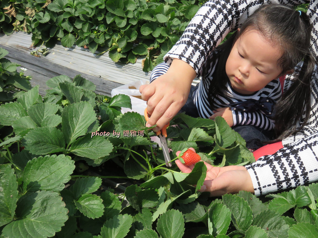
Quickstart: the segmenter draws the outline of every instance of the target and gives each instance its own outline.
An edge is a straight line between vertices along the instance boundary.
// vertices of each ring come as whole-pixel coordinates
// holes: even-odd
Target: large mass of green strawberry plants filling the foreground
[[[4,78],[11,74],[18,75],[3,70]],[[131,107],[128,96],[97,95],[81,76],[50,79],[43,97],[38,86],[9,86],[16,92],[0,105],[0,237],[318,235],[316,183],[261,198],[240,191],[215,199],[199,192],[204,162],[189,174],[179,171],[173,161],[190,147],[215,166],[253,161],[221,117],[173,118],[168,168],[144,116],[121,113]],[[125,187],[106,186],[109,179]]]

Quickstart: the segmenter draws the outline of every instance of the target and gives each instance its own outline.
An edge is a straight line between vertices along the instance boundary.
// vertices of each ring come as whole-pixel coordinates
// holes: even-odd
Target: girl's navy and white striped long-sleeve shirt
[[[212,55],[212,54],[211,54]],[[250,94],[244,95],[240,94],[231,87],[229,82],[226,83],[226,92],[224,94],[218,94],[214,98],[213,107],[211,107],[209,102],[209,88],[211,83],[213,83],[214,71],[217,67],[218,59],[212,58],[209,61],[210,65],[206,65],[209,70],[207,70],[206,75],[203,77],[202,81],[198,83],[197,89],[193,92],[193,102],[197,107],[198,115],[202,118],[209,118],[212,116],[213,110],[217,108],[228,107],[230,103],[234,102],[244,102],[247,100],[256,100],[260,98],[271,98],[277,101],[281,96],[281,86],[279,79],[274,79],[272,82],[268,83],[263,89]],[[169,65],[166,63],[158,64],[150,75],[150,82],[154,81],[157,77],[167,72]],[[228,79],[225,79],[228,81]],[[253,125],[260,129],[271,130],[274,127],[274,121],[268,117],[263,111],[257,110],[255,112],[244,112],[232,110],[233,126],[236,125]]]

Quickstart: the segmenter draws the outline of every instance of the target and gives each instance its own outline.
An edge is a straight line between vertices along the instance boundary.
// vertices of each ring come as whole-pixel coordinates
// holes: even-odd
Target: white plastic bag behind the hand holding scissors
[[[126,94],[131,99],[131,109],[121,108],[122,113],[133,111],[144,115],[145,108],[147,107],[147,102],[141,99],[141,93],[139,92],[139,87],[143,84],[148,84],[148,82],[144,79],[141,79],[139,81],[128,83],[112,90],[112,97],[117,94]]]

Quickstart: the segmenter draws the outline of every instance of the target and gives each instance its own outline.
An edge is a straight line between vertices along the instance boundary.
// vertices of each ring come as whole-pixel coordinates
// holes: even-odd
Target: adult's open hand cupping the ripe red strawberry
[[[193,148],[189,148],[194,151]],[[181,151],[177,151],[178,156]],[[186,162],[186,161],[185,161]],[[180,160],[176,164],[183,173],[190,173],[194,165],[186,166]],[[254,187],[250,174],[244,166],[214,167],[204,162],[207,167],[205,181],[199,191],[210,192],[211,196],[221,196],[226,193],[238,193],[240,190],[254,193]]]

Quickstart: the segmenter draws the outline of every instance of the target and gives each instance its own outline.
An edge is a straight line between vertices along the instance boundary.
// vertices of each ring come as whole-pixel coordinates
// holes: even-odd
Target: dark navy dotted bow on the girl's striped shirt
[[[255,112],[261,111],[267,116],[271,116],[273,113],[275,101],[269,97],[260,97],[259,100],[249,99],[243,102],[233,102],[228,106],[241,112]]]

